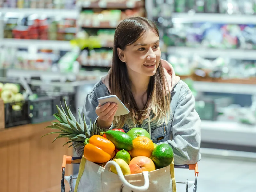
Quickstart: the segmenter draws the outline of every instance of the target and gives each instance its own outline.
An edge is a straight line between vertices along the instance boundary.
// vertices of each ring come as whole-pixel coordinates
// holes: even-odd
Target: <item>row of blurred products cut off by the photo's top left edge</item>
[[[0,0],[0,8],[75,9],[76,0]]]

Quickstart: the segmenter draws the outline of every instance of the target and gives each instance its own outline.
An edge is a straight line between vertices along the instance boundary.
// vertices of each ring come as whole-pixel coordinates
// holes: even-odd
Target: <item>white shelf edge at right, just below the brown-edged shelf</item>
[[[256,84],[215,83],[194,81],[193,87],[199,92],[216,92],[256,95]]]

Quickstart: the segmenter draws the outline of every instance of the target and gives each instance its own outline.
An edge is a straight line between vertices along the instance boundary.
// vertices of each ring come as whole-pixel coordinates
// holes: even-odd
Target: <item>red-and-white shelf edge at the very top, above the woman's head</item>
[[[137,8],[144,6],[142,0],[126,0],[121,2],[107,2],[106,0],[99,0],[95,2],[80,0],[76,3],[76,6],[83,8],[111,8],[111,9],[127,9]]]

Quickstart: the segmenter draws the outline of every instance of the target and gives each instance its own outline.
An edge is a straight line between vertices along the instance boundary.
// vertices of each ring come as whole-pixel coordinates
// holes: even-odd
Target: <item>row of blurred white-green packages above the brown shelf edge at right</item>
[[[169,55],[175,73],[181,77],[190,77],[197,81],[256,84],[256,61],[217,58],[191,58],[182,55]]]

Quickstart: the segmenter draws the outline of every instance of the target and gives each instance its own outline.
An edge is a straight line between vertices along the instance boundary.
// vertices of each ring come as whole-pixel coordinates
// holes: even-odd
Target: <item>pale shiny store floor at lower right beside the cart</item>
[[[202,157],[198,164],[197,192],[254,192],[256,191],[256,162]],[[176,169],[176,181],[195,180],[192,170]],[[177,184],[177,192],[185,192]],[[189,188],[193,192],[193,186]]]

